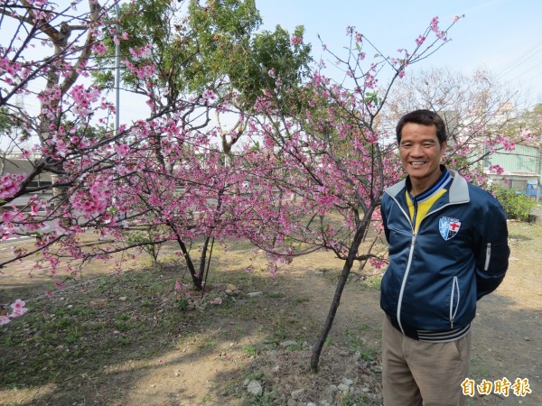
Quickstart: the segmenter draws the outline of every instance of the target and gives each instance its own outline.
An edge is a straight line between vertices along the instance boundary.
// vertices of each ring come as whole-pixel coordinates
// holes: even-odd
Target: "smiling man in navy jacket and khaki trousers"
[[[404,115],[397,143],[406,180],[385,190],[382,219],[389,265],[380,306],[385,406],[464,405],[476,301],[508,268],[500,203],[440,163],[442,118]]]

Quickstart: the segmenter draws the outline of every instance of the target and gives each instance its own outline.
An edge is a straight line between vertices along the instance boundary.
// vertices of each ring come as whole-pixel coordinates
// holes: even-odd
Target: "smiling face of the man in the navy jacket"
[[[440,161],[446,149],[436,136],[436,125],[406,123],[401,132],[399,154],[410,179],[429,188],[439,178]],[[423,191],[423,190],[418,190]]]

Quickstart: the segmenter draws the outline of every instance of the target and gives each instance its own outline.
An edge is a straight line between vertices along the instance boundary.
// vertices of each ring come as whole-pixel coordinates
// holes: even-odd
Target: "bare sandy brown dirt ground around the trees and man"
[[[509,227],[512,253],[505,281],[497,291],[479,302],[477,317],[473,322],[471,378],[475,383],[481,383],[482,379],[494,382],[507,378],[511,383],[517,378],[528,379],[532,392],[525,397],[512,393],[508,397],[495,394],[474,397],[469,401],[470,404],[531,406],[542,404],[542,244],[540,244],[542,226],[537,226],[537,232],[534,234],[538,237],[525,236],[520,233],[521,227],[532,226],[515,223]],[[0,255],[4,256],[10,249],[10,245],[0,245]],[[231,264],[240,266],[246,262],[246,256],[246,252],[233,251],[221,255],[220,258],[224,266]],[[132,263],[136,262],[137,260],[134,260]],[[9,303],[16,298],[31,300],[40,296],[42,291],[51,289],[50,281],[45,274],[34,274],[33,279],[29,279],[25,268],[27,266],[16,264],[2,270],[0,304]],[[126,263],[126,266],[130,266],[130,263]],[[289,317],[306,318],[307,323],[323,326],[335,290],[335,281],[330,275],[332,272],[338,272],[340,268],[341,262],[329,253],[315,253],[298,258],[285,272],[281,272],[275,278],[269,277],[268,291],[281,291],[284,295],[277,298],[273,295],[264,295],[258,305],[270,311],[284,312]],[[97,268],[89,267],[85,271],[85,276],[92,278],[104,272],[112,272],[112,268],[101,264]],[[378,380],[378,348],[382,321],[378,305],[379,291],[376,288],[360,289],[359,281],[360,277],[354,275],[342,295],[330,340],[342,343],[348,331],[363,326],[364,346],[374,351],[373,364],[376,364],[374,368],[371,367],[371,379]],[[248,293],[250,286],[241,289]],[[273,366],[275,362],[290,362],[288,373],[276,373],[275,378],[276,381],[282,381],[283,387],[289,388],[290,391],[299,388],[304,388],[307,392],[317,391],[322,382],[340,383],[343,377],[355,378],[352,375],[360,374],[359,368],[352,370],[350,355],[343,354],[341,348],[335,346],[324,347],[320,362],[321,370],[316,374],[320,376],[310,374],[308,356],[313,343],[308,343],[309,349],[296,353],[297,358],[290,353],[292,357],[290,360],[284,358],[277,360],[278,355],[274,352],[260,355],[260,359],[257,360],[248,359],[242,348],[253,345],[260,339],[257,333],[259,321],[245,322],[251,325],[242,326],[242,330],[252,333],[243,334],[242,337],[235,334],[241,330],[238,323],[234,318],[217,320],[211,327],[217,333],[216,345],[212,351],[203,355],[198,351],[197,343],[186,342],[182,349],[166,351],[150,364],[141,365],[128,361],[125,364],[104,365],[104,374],[108,376],[107,383],[98,384],[89,380],[81,387],[81,391],[84,392],[100,392],[101,397],[95,397],[94,401],[74,401],[70,404],[241,404],[239,401],[241,396],[238,398],[227,396],[222,385],[230,382],[232,376],[238,374],[241,369],[246,370],[249,363],[259,363],[262,369],[266,365]],[[284,368],[283,370],[285,371]],[[243,376],[240,376],[238,379],[242,378]],[[266,382],[270,381],[272,379],[267,378]],[[369,386],[371,390],[378,390],[378,383],[373,382]],[[0,387],[0,403],[35,404],[33,400],[45,399],[48,393],[58,390],[54,385],[19,392]],[[108,392],[115,393],[107,396]],[[260,401],[254,404],[287,404],[286,398],[287,396],[283,397],[282,402]]]

